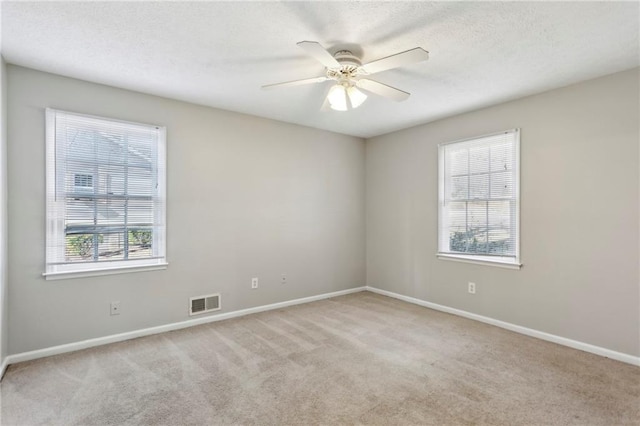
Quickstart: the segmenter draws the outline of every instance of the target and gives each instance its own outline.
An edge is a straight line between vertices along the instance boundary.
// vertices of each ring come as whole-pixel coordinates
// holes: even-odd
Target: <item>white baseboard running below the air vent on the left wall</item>
[[[52,355],[59,355],[66,352],[78,351],[81,349],[92,348],[94,346],[106,345],[109,343],[122,342],[124,340],[135,339],[137,337],[150,336],[152,334],[164,333],[166,331],[180,330],[182,328],[193,327],[195,325],[207,324],[215,321],[241,317],[244,315],[255,314],[258,312],[271,311],[274,309],[286,308],[287,306],[300,305],[303,303],[315,302],[322,299],[343,296],[345,294],[357,293],[365,291],[366,287],[350,288],[348,290],[334,291],[332,293],[320,294],[317,296],[303,297],[301,299],[287,300],[285,302],[272,303],[270,305],[256,306],[255,308],[241,309],[233,312],[225,312],[217,315],[210,315],[202,318],[195,318],[171,324],[160,325],[157,327],[144,328],[141,330],[128,331],[126,333],[112,334],[110,336],[98,337],[95,339],[82,340],[80,342],[68,343],[65,345],[52,346],[50,348],[38,349],[35,351],[22,352],[19,354],[9,355],[2,364],[2,372],[10,364],[18,362],[30,361],[33,359],[44,358]],[[1,376],[0,376],[1,377]]]

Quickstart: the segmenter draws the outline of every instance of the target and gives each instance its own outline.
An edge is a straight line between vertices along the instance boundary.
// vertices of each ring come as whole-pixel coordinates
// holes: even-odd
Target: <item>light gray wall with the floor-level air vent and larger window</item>
[[[11,354],[365,284],[364,140],[7,69]],[[167,270],[42,278],[46,107],[167,127]]]

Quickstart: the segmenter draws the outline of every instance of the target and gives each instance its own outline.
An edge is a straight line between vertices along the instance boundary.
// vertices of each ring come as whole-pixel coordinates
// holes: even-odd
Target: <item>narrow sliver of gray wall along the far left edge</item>
[[[0,56],[0,365],[8,355],[7,277],[7,67]]]

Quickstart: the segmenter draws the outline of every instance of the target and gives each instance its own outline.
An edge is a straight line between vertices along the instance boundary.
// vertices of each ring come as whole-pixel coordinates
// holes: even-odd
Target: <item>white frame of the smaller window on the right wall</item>
[[[483,253],[463,253],[448,252],[442,250],[442,235],[444,207],[445,207],[445,154],[444,147],[453,144],[476,141],[492,136],[514,133],[514,201],[515,201],[515,256],[489,255]],[[507,269],[520,269],[522,267],[520,259],[520,129],[513,128],[500,132],[489,133],[480,136],[474,136],[465,139],[459,139],[451,142],[438,144],[438,231],[437,231],[437,251],[436,256],[441,260],[451,260],[478,265],[496,266]],[[485,199],[481,199],[485,200]],[[490,199],[486,199],[490,200]]]

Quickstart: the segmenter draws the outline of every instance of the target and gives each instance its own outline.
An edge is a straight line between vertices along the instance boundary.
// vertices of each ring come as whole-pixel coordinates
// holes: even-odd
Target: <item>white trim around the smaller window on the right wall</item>
[[[481,139],[485,137],[500,135],[504,133],[514,132],[517,135],[516,144],[515,144],[515,199],[516,199],[516,247],[515,247],[515,256],[514,257],[506,257],[506,256],[483,256],[479,254],[463,254],[463,253],[446,253],[440,251],[440,227],[442,221],[441,214],[441,206],[440,203],[444,200],[444,179],[442,178],[442,170],[444,167],[444,156],[442,155],[442,150],[440,147],[460,142],[472,141],[475,139]],[[449,260],[455,262],[463,262],[463,263],[471,263],[476,265],[484,265],[484,266],[495,266],[500,268],[507,269],[520,269],[523,264],[520,262],[520,129],[513,128],[508,130],[503,130],[501,132],[488,133],[480,136],[473,136],[470,138],[459,139],[451,142],[445,142],[438,144],[438,239],[437,239],[437,251],[436,257],[440,260]]]

